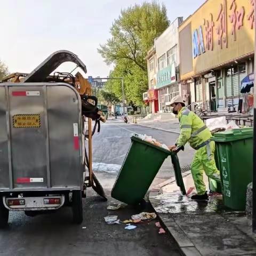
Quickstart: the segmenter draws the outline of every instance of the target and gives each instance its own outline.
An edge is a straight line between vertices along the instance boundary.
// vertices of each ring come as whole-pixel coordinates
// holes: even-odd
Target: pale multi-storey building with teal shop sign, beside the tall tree
[[[178,27],[183,18],[179,17],[155,39],[154,46],[148,51],[148,88],[143,100],[149,102],[152,113],[170,111],[166,105],[176,95],[182,95],[179,83],[179,45]],[[184,87],[184,86],[183,86]],[[186,94],[186,90],[183,90]]]

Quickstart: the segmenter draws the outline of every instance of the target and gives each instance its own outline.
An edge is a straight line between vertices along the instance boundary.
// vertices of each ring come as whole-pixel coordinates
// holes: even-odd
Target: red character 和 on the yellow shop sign
[[[234,36],[236,41],[236,30],[244,26],[244,7],[242,6],[239,11],[236,10],[236,0],[232,0],[229,10],[231,10],[231,15],[229,15],[229,20],[232,24],[231,34]]]

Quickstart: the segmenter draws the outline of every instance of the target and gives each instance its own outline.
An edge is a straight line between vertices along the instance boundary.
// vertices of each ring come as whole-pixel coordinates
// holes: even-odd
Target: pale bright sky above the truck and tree
[[[0,0],[0,60],[10,73],[30,73],[51,53],[69,50],[87,67],[86,76],[106,77],[107,66],[97,52],[110,38],[109,29],[121,9],[145,0]],[[187,18],[205,0],[163,0],[170,21]],[[61,71],[71,71],[65,63]]]

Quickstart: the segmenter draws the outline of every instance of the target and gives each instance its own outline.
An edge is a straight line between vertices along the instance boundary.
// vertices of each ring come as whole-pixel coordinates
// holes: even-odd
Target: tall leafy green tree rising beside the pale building
[[[98,49],[105,62],[115,66],[109,76],[124,77],[125,97],[137,106],[143,104],[142,93],[148,89],[147,51],[168,26],[164,5],[155,1],[134,5],[121,11],[110,28],[111,38]],[[122,98],[120,81],[108,81],[107,87]]]

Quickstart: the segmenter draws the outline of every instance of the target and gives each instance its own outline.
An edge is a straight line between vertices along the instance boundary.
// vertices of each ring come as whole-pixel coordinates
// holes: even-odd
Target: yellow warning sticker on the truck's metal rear
[[[39,128],[40,114],[20,114],[12,117],[13,128]]]

